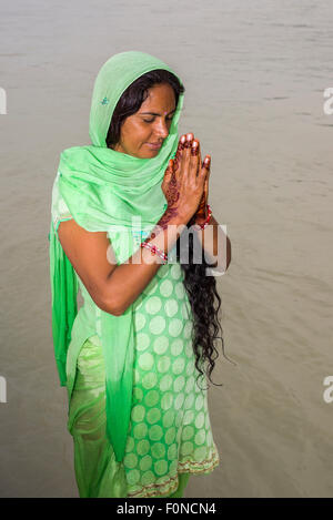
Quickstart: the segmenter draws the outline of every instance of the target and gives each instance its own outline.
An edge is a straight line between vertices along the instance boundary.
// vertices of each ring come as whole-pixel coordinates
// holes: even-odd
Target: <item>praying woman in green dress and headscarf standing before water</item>
[[[201,164],[193,134],[178,143],[183,92],[150,54],[113,55],[94,84],[92,145],[61,154],[52,328],[80,497],[182,497],[190,473],[219,463],[199,380],[205,360],[214,366],[221,300],[205,276],[212,264],[181,258],[192,223],[201,252],[216,255],[204,225],[219,226],[208,205],[210,157]],[[228,267],[229,241],[226,249]]]

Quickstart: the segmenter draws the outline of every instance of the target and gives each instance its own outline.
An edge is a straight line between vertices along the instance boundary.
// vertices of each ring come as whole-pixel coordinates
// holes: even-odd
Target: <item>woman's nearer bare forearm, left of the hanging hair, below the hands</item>
[[[167,210],[144,242],[155,245],[168,254],[185,228],[188,221],[189,218],[186,220],[179,212]],[[161,265],[163,263],[158,254],[153,255],[150,249],[140,246],[127,263],[118,265],[112,271],[107,281],[107,294],[112,295],[113,307],[117,302],[117,315],[123,314],[135,302]]]

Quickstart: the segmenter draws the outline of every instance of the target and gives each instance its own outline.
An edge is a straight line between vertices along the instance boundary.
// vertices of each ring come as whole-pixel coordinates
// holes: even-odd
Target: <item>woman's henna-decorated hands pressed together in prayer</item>
[[[168,210],[175,210],[186,222],[198,210],[210,170],[210,155],[201,164],[199,146],[193,133],[181,136],[175,157],[169,161],[161,186]]]

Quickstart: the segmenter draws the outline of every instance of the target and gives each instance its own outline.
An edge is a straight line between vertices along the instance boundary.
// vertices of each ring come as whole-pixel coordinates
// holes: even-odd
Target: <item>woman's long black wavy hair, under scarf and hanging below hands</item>
[[[175,105],[178,106],[179,95],[185,91],[178,78],[163,69],[147,72],[131,83],[119,99],[105,140],[108,147],[113,147],[114,144],[119,143],[122,123],[129,115],[139,111],[149,95],[148,90],[158,83],[168,83],[173,88]],[[188,228],[192,223],[191,220],[186,225]],[[208,361],[206,374],[210,381],[213,383],[211,373],[215,366],[215,359],[219,357],[218,349],[214,346],[216,339],[221,339],[222,351],[224,354],[223,330],[219,322],[221,297],[216,290],[215,277],[206,276],[206,268],[210,268],[212,264],[206,262],[204,254],[200,258],[201,263],[193,263],[193,239],[195,241],[195,234],[192,233],[189,233],[188,241],[182,241],[181,236],[178,238],[176,259],[184,272],[184,288],[193,313],[192,343],[195,367],[200,373],[199,377],[203,376],[201,367],[203,368],[205,361]],[[185,248],[184,243],[188,244]],[[194,247],[196,246],[194,245]],[[186,248],[188,251],[184,251]],[[219,330],[221,330],[221,336],[218,336]],[[215,384],[213,383],[213,385]]]

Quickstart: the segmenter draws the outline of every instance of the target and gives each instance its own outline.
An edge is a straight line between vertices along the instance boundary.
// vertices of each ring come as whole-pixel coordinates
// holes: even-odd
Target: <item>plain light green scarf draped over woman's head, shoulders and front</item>
[[[176,75],[164,62],[143,52],[121,52],[110,58],[94,83],[89,126],[92,145],[67,149],[60,156],[59,191],[72,217],[90,232],[112,234],[118,264],[133,253],[133,242],[129,241],[132,217],[141,217],[141,226],[151,231],[168,206],[161,184],[168,162],[174,157],[178,147],[183,94],[179,96],[170,133],[155,157],[138,159],[108,149],[105,143],[121,94],[139,77],[155,69],[165,69]],[[53,344],[60,383],[64,386],[67,351],[77,315],[78,283],[52,221],[49,238]],[[107,435],[117,461],[124,457],[132,408],[132,306],[118,317],[100,310],[99,334],[105,359]]]

